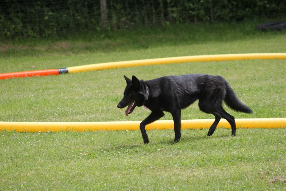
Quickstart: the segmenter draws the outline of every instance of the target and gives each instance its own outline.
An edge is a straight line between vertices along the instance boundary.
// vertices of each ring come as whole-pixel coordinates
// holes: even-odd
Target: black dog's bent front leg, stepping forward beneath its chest
[[[148,115],[148,117],[140,123],[140,130],[141,130],[142,138],[143,138],[143,141],[145,144],[149,143],[149,139],[148,139],[148,135],[147,135],[146,130],[145,130],[145,126],[147,124],[150,124],[150,123],[160,119],[163,116],[164,116],[163,111],[152,111],[150,113],[150,115]]]

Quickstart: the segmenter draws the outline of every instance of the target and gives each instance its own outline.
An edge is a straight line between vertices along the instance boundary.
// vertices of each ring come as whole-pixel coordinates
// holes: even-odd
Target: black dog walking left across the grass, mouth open
[[[229,122],[231,133],[235,136],[234,117],[223,109],[223,101],[235,111],[252,113],[251,109],[237,98],[229,83],[221,76],[188,74],[164,76],[148,81],[139,81],[135,76],[132,76],[132,80],[125,75],[124,78],[127,86],[117,107],[124,108],[128,105],[125,111],[126,116],[132,113],[136,106],[144,105],[152,111],[140,123],[143,141],[146,144],[149,139],[145,126],[163,117],[163,111],[172,114],[175,128],[174,142],[178,142],[181,138],[181,109],[188,107],[197,99],[200,110],[215,115],[215,122],[209,128],[209,136],[214,133],[222,117]]]

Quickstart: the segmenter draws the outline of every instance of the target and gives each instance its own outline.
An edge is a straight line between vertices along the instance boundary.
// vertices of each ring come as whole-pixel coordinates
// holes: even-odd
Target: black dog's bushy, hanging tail
[[[226,82],[226,96],[224,98],[226,105],[228,105],[234,111],[240,111],[244,113],[252,113],[252,110],[243,104],[234,93],[234,90]]]

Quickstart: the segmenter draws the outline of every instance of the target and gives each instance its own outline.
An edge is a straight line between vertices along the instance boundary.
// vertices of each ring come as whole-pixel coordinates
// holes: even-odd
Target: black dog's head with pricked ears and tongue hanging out
[[[117,107],[121,109],[128,106],[125,111],[126,116],[128,116],[128,114],[133,112],[136,106],[140,107],[145,104],[145,101],[149,96],[149,90],[144,82],[139,81],[136,76],[132,76],[132,80],[125,75],[124,78],[127,85],[123,93],[123,98],[118,103]]]

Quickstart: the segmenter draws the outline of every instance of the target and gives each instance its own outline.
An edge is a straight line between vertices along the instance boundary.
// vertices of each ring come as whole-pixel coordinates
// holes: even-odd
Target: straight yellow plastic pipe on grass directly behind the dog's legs
[[[286,118],[254,118],[235,119],[237,128],[285,128]],[[51,132],[51,131],[113,131],[139,130],[141,121],[110,121],[110,122],[0,122],[0,131],[16,132]],[[182,120],[181,129],[206,129],[214,119]],[[222,119],[217,127],[230,128],[229,123]],[[159,120],[146,126],[146,130],[173,129],[172,120]]]

